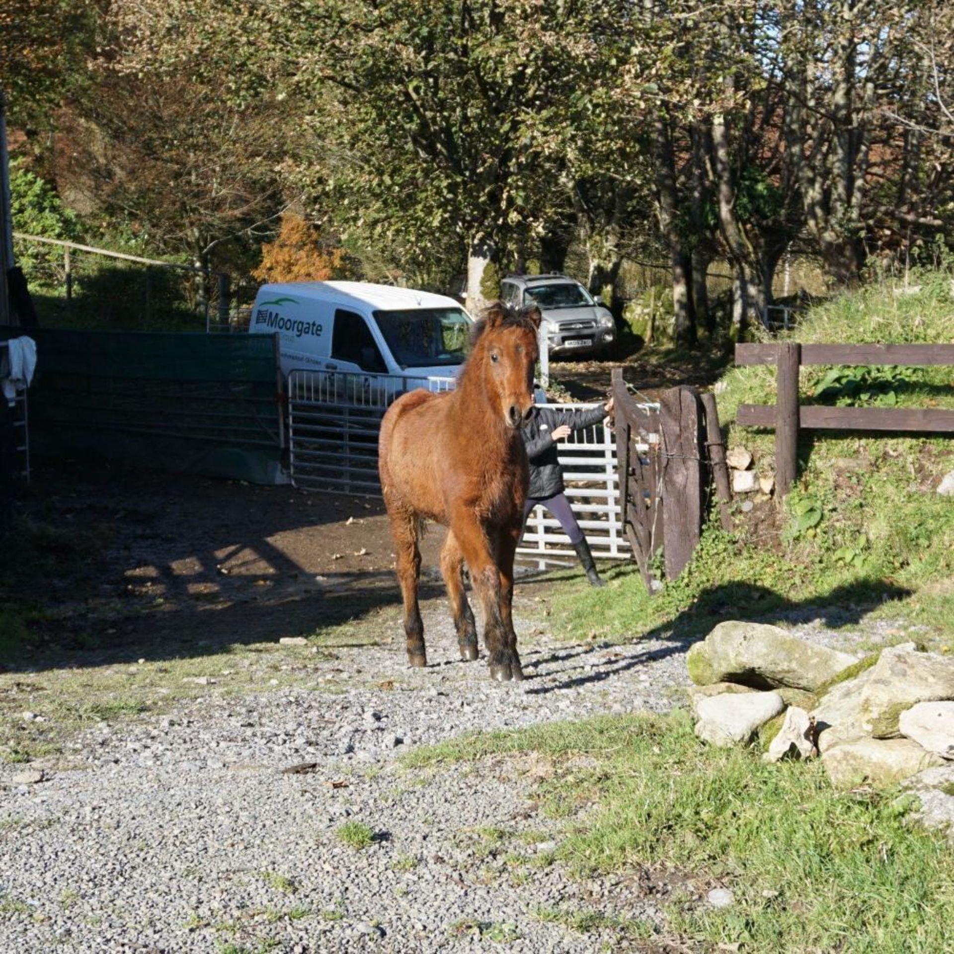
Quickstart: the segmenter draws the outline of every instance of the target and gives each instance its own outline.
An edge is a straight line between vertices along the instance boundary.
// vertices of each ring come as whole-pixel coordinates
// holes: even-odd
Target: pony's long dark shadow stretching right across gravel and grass
[[[819,619],[829,628],[856,625],[881,603],[910,596],[911,591],[881,580],[863,580],[831,591],[823,599],[789,600],[766,587],[747,583],[713,587],[699,594],[693,607],[675,619],[637,637],[638,641],[607,646],[572,646],[546,655],[534,655],[524,664],[528,680],[544,678],[548,667],[576,659],[576,665],[561,672],[563,678],[527,690],[528,695],[547,695],[561,689],[605,682],[658,659],[686,653],[718,623],[729,619],[758,623],[806,623]],[[640,649],[645,640],[662,641],[653,650]],[[609,653],[609,654],[608,654]]]

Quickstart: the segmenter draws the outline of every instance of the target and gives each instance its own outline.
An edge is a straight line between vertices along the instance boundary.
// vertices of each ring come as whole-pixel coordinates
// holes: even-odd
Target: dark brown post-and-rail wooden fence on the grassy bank
[[[775,364],[777,403],[740,404],[736,421],[774,427],[776,488],[783,497],[798,470],[798,432],[804,429],[884,430],[954,434],[954,410],[937,407],[831,407],[799,404],[798,371],[804,365],[892,364],[954,366],[954,344],[736,344],[736,364]]]

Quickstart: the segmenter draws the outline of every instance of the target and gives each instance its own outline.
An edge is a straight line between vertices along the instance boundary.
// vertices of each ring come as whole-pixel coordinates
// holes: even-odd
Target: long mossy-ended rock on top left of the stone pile
[[[719,623],[687,657],[697,685],[740,682],[757,689],[791,686],[814,692],[857,657],[816,646],[764,623]]]

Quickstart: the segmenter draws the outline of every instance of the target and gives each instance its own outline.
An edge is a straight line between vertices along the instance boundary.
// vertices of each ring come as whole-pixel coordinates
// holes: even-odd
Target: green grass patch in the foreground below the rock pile
[[[599,808],[556,858],[580,875],[651,869],[731,886],[726,909],[674,904],[667,933],[752,950],[943,950],[954,923],[954,856],[905,822],[896,793],[835,792],[819,762],[767,765],[716,749],[686,713],[602,716],[451,740],[416,764],[536,752],[554,759],[548,803]],[[588,756],[581,768],[577,754]],[[763,894],[765,892],[766,894]]]

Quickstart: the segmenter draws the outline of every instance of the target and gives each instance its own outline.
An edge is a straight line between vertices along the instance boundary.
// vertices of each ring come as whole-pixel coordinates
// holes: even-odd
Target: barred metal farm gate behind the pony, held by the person
[[[378,432],[384,411],[407,390],[424,385],[381,374],[292,371],[288,376],[288,422],[292,483],[303,490],[379,496]],[[431,380],[447,391],[453,378]],[[550,404],[582,410],[593,404]],[[631,549],[619,508],[616,443],[606,424],[575,431],[560,445],[567,496],[593,555],[629,560]],[[534,508],[517,550],[522,562],[541,569],[575,559],[570,540],[543,508]]]

